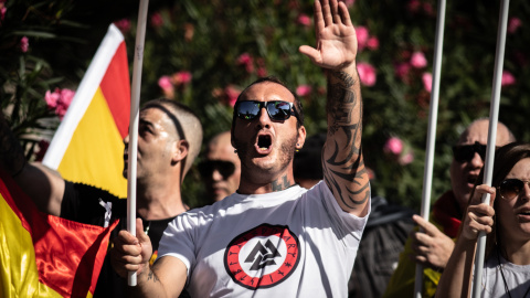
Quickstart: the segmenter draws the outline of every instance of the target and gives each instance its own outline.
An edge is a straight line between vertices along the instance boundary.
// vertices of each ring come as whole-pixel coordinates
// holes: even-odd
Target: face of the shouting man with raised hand
[[[240,100],[285,100],[294,103],[293,94],[284,86],[263,82],[248,87]],[[255,171],[278,172],[292,162],[296,143],[304,143],[306,131],[297,128],[296,117],[273,121],[265,108],[252,120],[235,118],[233,146],[237,149],[242,168]]]

